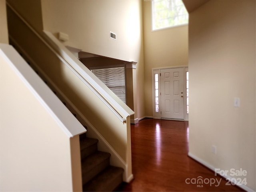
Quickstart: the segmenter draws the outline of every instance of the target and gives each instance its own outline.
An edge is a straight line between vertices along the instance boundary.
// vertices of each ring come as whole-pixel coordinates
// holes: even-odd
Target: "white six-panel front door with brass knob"
[[[161,117],[184,119],[184,68],[161,69]]]

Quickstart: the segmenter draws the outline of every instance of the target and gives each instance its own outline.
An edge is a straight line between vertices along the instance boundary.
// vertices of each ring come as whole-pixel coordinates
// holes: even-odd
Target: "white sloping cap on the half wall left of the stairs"
[[[50,116],[52,116],[68,137],[71,138],[86,132],[86,129],[68,110],[63,110],[64,106],[62,106],[62,103],[57,100],[56,96],[44,82],[34,74],[33,70],[12,46],[0,44],[0,54],[8,61],[12,70],[17,74],[20,80],[22,80],[28,90],[32,92],[40,104],[44,106]],[[18,65],[16,65],[16,63],[18,63]],[[48,98],[50,98],[50,100]],[[52,105],[52,103],[55,103],[55,105]],[[67,117],[68,119],[66,119]],[[70,122],[70,120],[72,120],[72,122]]]

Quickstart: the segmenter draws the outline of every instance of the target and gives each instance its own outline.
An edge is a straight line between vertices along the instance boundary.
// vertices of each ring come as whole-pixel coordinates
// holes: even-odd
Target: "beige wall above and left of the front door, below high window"
[[[146,116],[152,116],[152,68],[188,65],[188,26],[152,31],[151,1],[143,1]]]

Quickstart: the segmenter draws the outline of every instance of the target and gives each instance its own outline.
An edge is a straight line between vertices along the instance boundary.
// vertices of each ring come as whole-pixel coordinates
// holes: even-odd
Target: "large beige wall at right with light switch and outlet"
[[[190,14],[190,155],[212,168],[246,170],[232,177],[254,191],[255,52],[255,0],[211,0]]]

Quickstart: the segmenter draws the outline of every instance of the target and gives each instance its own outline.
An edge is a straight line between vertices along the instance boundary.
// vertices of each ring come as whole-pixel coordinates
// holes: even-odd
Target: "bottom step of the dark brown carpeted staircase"
[[[100,174],[83,185],[83,191],[113,191],[122,183],[124,169],[108,166]]]

